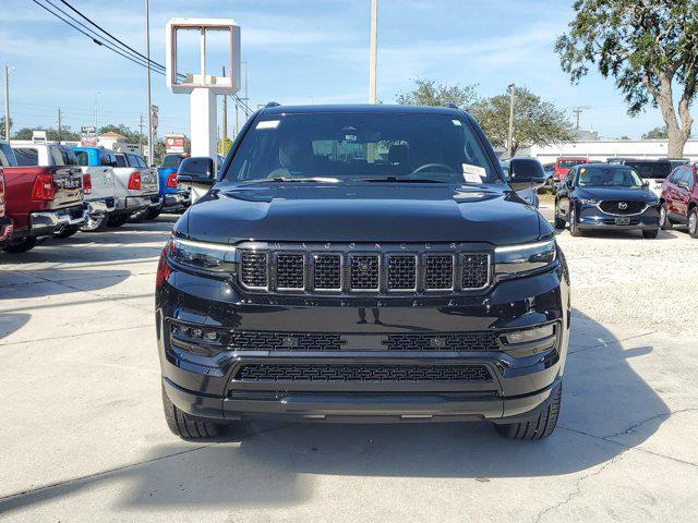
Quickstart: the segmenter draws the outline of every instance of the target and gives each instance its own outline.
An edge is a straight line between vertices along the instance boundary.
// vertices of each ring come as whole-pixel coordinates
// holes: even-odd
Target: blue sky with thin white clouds
[[[58,0],[53,3],[60,4]],[[106,29],[145,48],[143,1],[71,0]],[[165,63],[165,23],[173,16],[233,17],[242,27],[251,107],[363,102],[368,96],[370,0],[151,0],[152,52]],[[136,129],[145,112],[145,69],[93,44],[31,0],[2,0],[0,64],[13,65],[15,129],[56,125],[58,107],[73,130],[94,120]],[[662,124],[649,107],[629,118],[612,80],[590,74],[571,86],[553,51],[573,16],[561,0],[380,0],[378,99],[388,104],[413,78],[479,84],[481,96],[510,82],[558,107],[589,106],[582,127],[604,137],[639,137]],[[159,134],[189,131],[189,97],[153,75]],[[695,110],[694,110],[695,112]],[[234,121],[229,110],[229,121]],[[570,114],[571,118],[571,114]],[[232,126],[232,123],[230,124]]]

